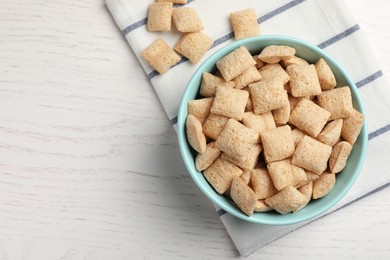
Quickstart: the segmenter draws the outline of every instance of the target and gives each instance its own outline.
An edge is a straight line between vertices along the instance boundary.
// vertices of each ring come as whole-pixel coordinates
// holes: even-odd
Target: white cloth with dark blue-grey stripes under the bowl
[[[146,31],[148,5],[154,0],[106,2],[174,127],[180,98],[192,73],[208,56],[234,41],[228,19],[230,12],[255,8],[262,34],[289,35],[324,49],[348,71],[359,88],[367,113],[369,145],[358,180],[346,197],[322,216],[389,186],[390,89],[359,25],[342,0],[189,0],[187,6],[198,11],[204,32],[215,42],[198,65],[183,58],[164,75],[159,75],[140,57],[141,51],[157,37],[163,37],[170,46],[174,46],[180,37],[177,32]],[[218,208],[217,211],[242,255],[249,255],[308,223],[266,226],[241,221]]]

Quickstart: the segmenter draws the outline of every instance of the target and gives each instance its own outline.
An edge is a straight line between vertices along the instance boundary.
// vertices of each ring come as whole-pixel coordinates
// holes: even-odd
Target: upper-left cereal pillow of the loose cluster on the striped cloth
[[[167,32],[171,30],[172,3],[152,3],[149,5],[146,30],[149,32]]]

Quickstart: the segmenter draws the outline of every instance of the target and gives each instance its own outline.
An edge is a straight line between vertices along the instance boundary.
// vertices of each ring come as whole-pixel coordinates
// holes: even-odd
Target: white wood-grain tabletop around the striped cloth
[[[347,3],[390,75],[390,1]],[[249,259],[390,259],[389,197]],[[0,259],[237,256],[104,1],[1,0]]]

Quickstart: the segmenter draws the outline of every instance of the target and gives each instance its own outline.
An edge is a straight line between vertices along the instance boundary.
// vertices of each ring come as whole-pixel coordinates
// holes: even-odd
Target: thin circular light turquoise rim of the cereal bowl
[[[222,57],[223,57],[240,46],[244,46],[245,44],[248,44],[251,42],[257,42],[257,41],[279,41],[280,43],[276,43],[276,44],[288,45],[288,43],[292,43],[292,44],[301,45],[304,48],[308,48],[311,51],[313,51],[314,53],[316,53],[317,55],[323,57],[327,62],[330,61],[332,63],[332,66],[336,67],[337,70],[341,73],[341,75],[348,82],[348,85],[351,89],[351,92],[353,92],[353,95],[355,96],[354,102],[357,103],[357,105],[359,107],[358,110],[364,115],[364,124],[363,124],[363,127],[362,127],[361,132],[360,132],[360,135],[362,136],[361,137],[362,138],[361,156],[359,156],[360,160],[358,161],[358,164],[356,166],[356,170],[355,170],[356,173],[350,177],[350,180],[348,182],[348,187],[345,189],[342,189],[342,191],[340,191],[338,193],[336,198],[331,203],[328,203],[326,205],[326,207],[320,208],[320,210],[315,211],[313,214],[306,214],[305,217],[294,218],[293,220],[290,220],[290,221],[267,221],[267,220],[262,220],[262,219],[258,219],[258,218],[252,218],[252,217],[247,216],[244,213],[242,213],[241,210],[238,208],[237,208],[237,211],[240,211],[240,212],[226,208],[225,205],[223,205],[224,203],[222,203],[220,200],[217,200],[214,198],[214,196],[216,196],[216,195],[220,196],[220,195],[217,194],[217,192],[214,191],[211,186],[210,186],[211,189],[206,189],[206,187],[204,187],[202,185],[202,183],[200,183],[199,179],[196,177],[196,174],[199,175],[202,173],[198,172],[195,169],[195,166],[193,163],[192,164],[190,163],[191,161],[193,162],[193,159],[189,158],[189,155],[184,150],[185,146],[189,145],[188,141],[186,139],[186,133],[184,130],[185,127],[183,127],[183,126],[185,126],[185,119],[187,117],[187,114],[186,115],[182,115],[182,114],[186,110],[187,103],[188,103],[188,100],[185,100],[185,97],[188,95],[188,92],[190,91],[191,86],[194,85],[194,81],[198,80],[197,79],[199,77],[198,74],[202,74],[203,72],[205,72],[206,70],[204,69],[204,67],[206,67],[208,64],[212,63],[213,65],[215,65],[215,63],[218,60],[216,57],[219,57],[222,54],[223,54],[222,55]],[[214,59],[215,59],[215,61],[213,61]],[[357,109],[357,108],[355,107],[355,109]],[[291,37],[291,36],[283,36],[283,35],[261,35],[261,36],[245,38],[245,39],[242,39],[239,41],[232,42],[232,43],[222,47],[221,49],[217,50],[213,54],[211,54],[197,68],[197,70],[193,73],[193,75],[191,76],[191,79],[189,80],[189,82],[186,85],[186,88],[185,88],[183,95],[181,97],[180,106],[179,106],[179,112],[178,112],[178,117],[177,117],[177,131],[178,131],[178,143],[179,143],[179,148],[180,148],[180,154],[181,154],[181,157],[182,157],[184,164],[187,168],[187,171],[189,172],[191,178],[196,183],[198,188],[203,192],[203,194],[205,194],[208,197],[208,199],[210,199],[214,204],[218,205],[218,207],[220,207],[221,209],[223,209],[227,213],[229,213],[235,217],[238,217],[242,220],[249,221],[252,223],[257,223],[257,224],[276,225],[276,226],[290,225],[290,224],[295,224],[295,223],[299,223],[299,222],[303,222],[303,221],[313,220],[313,219],[321,216],[324,212],[326,212],[327,210],[332,208],[337,202],[339,202],[345,196],[345,194],[350,190],[350,188],[355,183],[358,175],[360,174],[361,168],[362,168],[363,163],[365,161],[367,142],[368,142],[366,112],[365,112],[361,97],[359,95],[358,88],[356,87],[356,85],[352,81],[352,79],[350,78],[349,74],[344,70],[344,68],[338,62],[336,62],[329,54],[324,52],[319,47],[312,45],[304,40],[301,40],[301,39],[298,39],[295,37]],[[256,212],[254,214],[256,214]]]

